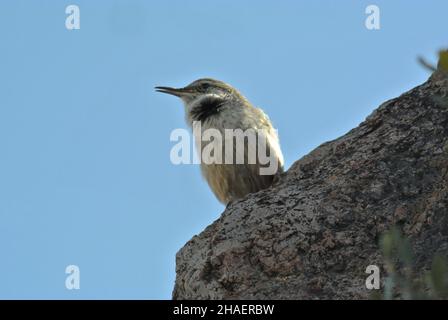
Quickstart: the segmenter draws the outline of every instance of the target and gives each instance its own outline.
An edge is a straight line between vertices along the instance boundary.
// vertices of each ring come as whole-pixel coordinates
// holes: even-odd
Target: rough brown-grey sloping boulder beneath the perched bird
[[[435,73],[230,205],[178,252],[173,298],[365,299],[393,225],[421,268],[446,254],[447,82]]]

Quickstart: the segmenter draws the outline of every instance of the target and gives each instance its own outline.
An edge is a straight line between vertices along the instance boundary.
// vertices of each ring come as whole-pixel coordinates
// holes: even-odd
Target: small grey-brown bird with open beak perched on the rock
[[[183,88],[157,86],[155,89],[157,92],[170,94],[182,100],[185,119],[191,128],[195,123],[200,123],[201,134],[209,129],[221,133],[224,141],[210,142],[217,144],[215,145],[217,150],[222,148],[225,152],[225,146],[230,145],[227,150],[230,149],[229,154],[233,162],[228,163],[228,158],[225,163],[200,162],[203,177],[216,198],[224,205],[228,206],[248,194],[270,187],[283,172],[284,160],[277,130],[263,110],[254,107],[236,88],[220,80],[201,78]],[[263,168],[266,169],[268,166],[266,159],[258,153],[260,145],[254,146],[253,143],[251,145],[250,139],[247,138],[243,141],[244,148],[237,148],[236,136],[226,136],[226,131],[238,129],[240,132],[261,132],[265,140],[266,153],[271,160],[269,163],[269,166],[272,166],[271,171],[265,170],[267,173],[262,173]],[[257,139],[260,139],[260,136],[257,136]],[[196,136],[195,142],[198,146]],[[202,156],[204,148],[206,146],[203,144],[199,144],[197,148]],[[256,154],[252,161],[250,152],[253,152],[252,155]],[[238,156],[239,162],[235,161]]]

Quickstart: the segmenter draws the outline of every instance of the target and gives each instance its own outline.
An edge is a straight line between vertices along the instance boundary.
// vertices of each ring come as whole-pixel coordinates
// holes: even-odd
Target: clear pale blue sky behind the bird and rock
[[[65,28],[76,4],[81,29]],[[380,8],[381,29],[364,26]],[[181,103],[224,80],[262,107],[289,167],[425,81],[447,1],[2,1],[0,298],[169,299],[175,254],[223,206],[175,166]],[[65,288],[65,268],[81,288]]]

